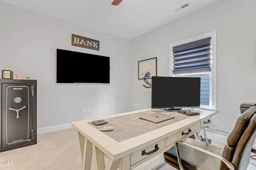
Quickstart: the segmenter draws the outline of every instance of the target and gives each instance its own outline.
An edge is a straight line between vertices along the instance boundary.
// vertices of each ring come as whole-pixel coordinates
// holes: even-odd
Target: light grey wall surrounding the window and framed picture
[[[138,61],[158,57],[158,76],[169,76],[171,43],[217,31],[217,108],[213,126],[231,131],[239,104],[256,102],[256,1],[221,0],[146,33],[130,43],[131,107],[151,106],[151,90],[138,80]]]

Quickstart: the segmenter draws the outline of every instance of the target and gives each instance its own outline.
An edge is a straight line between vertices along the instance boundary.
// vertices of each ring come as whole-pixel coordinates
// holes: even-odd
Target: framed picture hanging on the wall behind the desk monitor
[[[142,79],[144,75],[150,72],[150,77],[157,76],[157,57],[138,61],[138,79]]]

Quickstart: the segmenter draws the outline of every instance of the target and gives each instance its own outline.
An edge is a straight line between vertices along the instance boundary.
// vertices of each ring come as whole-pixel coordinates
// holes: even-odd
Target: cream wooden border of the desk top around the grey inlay
[[[86,119],[82,121],[72,122],[71,125],[79,133],[81,133],[84,137],[86,137],[86,139],[91,141],[93,145],[98,147],[100,150],[103,150],[105,154],[107,154],[112,160],[114,160],[115,157],[118,155],[121,156],[122,154],[129,154],[131,152],[134,152],[137,149],[140,149],[140,147],[142,146],[150,145],[151,143],[157,142],[160,139],[173,135],[174,133],[177,133],[178,131],[186,127],[189,127],[195,123],[200,122],[200,120],[204,119],[205,117],[216,114],[216,111],[195,109],[195,111],[200,111],[202,113],[200,113],[200,115],[197,115],[197,116],[188,116],[187,118],[181,119],[180,121],[173,122],[172,124],[169,124],[169,125],[164,125],[163,127],[159,127],[155,130],[153,129],[141,135],[124,139],[123,141],[119,141],[119,142],[112,139],[102,131],[99,131],[94,126],[89,124],[91,121],[96,121],[100,119],[106,120],[114,117],[121,117],[124,115],[132,115],[134,113],[140,113],[144,111],[153,111],[153,110],[155,109],[143,109],[138,111],[131,111],[126,113],[98,117],[94,119]],[[144,121],[144,120],[141,120],[141,121]],[[148,121],[145,121],[145,122],[148,122]],[[151,123],[151,122],[148,122],[148,123]],[[111,124],[108,124],[108,125],[111,125]],[[103,125],[103,126],[106,126],[106,125]]]

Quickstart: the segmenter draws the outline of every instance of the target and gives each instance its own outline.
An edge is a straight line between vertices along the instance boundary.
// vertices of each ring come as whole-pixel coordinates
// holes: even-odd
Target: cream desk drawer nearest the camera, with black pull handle
[[[159,148],[159,149],[158,149]],[[131,166],[164,149],[164,139],[131,153]]]

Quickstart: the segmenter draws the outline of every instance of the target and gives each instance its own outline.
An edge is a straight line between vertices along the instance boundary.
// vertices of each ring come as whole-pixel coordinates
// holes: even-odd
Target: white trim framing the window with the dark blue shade
[[[178,41],[176,43],[170,44],[170,55],[169,55],[169,76],[173,77],[172,74],[172,48],[178,45],[190,43],[192,41],[197,41],[200,39],[211,37],[212,39],[212,73],[210,75],[210,107],[212,109],[217,109],[217,45],[216,45],[216,38],[217,38],[216,31],[212,31],[210,33],[205,33],[203,35],[198,35],[196,37],[192,37],[189,39],[185,39],[182,41]],[[188,75],[188,74],[186,74]],[[192,74],[193,76],[196,74]],[[201,74],[202,75],[202,74]],[[203,106],[205,107],[205,106]]]

